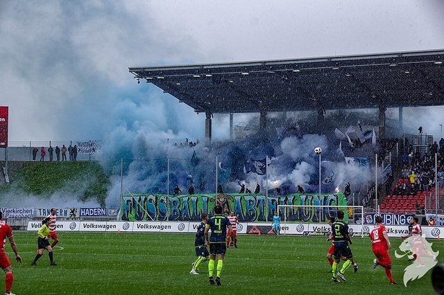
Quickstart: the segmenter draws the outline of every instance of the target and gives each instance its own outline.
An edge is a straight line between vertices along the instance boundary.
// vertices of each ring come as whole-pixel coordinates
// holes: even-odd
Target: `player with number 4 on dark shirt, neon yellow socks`
[[[214,206],[214,216],[212,216],[205,225],[205,241],[210,244],[210,261],[208,262],[208,274],[210,276],[210,284],[214,285],[214,264],[217,256],[217,266],[216,266],[216,284],[218,286],[221,284],[221,272],[223,267],[223,258],[225,257],[225,251],[227,246],[225,244],[227,229],[233,236],[233,231],[231,227],[230,220],[228,217],[222,215],[222,206]],[[211,230],[210,239],[208,238],[208,231]]]

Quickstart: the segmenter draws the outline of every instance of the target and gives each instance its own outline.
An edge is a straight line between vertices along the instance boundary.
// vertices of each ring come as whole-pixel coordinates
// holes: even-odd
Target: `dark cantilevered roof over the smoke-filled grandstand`
[[[443,62],[441,49],[129,71],[197,112],[245,113],[444,105]]]

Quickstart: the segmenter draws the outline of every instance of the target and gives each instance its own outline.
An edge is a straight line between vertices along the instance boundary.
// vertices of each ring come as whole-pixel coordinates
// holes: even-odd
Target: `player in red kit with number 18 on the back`
[[[373,260],[373,268],[375,269],[378,265],[384,267],[391,285],[398,285],[391,276],[391,257],[390,254],[388,254],[388,249],[391,249],[391,243],[390,240],[388,240],[386,227],[382,225],[381,216],[376,216],[375,222],[375,228],[370,233],[372,251],[376,256],[376,259]]]

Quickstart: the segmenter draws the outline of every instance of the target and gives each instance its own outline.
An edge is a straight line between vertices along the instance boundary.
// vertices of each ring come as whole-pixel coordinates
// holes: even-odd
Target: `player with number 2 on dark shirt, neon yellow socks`
[[[343,222],[344,213],[343,211],[338,211],[338,218],[336,222],[332,224],[332,235],[333,235],[333,244],[334,244],[334,262],[332,265],[333,277],[332,280],[334,282],[339,282],[339,278],[345,281],[344,271],[347,270],[350,265],[352,265],[353,254],[350,247],[348,247],[348,243],[352,244],[352,239],[350,239],[350,235],[348,234],[348,224]],[[347,258],[342,268],[339,272],[338,264],[341,261],[341,256]]]

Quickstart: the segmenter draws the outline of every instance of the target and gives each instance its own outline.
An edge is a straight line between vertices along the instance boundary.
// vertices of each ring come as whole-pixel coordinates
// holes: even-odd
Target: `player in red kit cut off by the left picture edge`
[[[5,294],[11,294],[12,281],[14,277],[12,276],[11,262],[5,252],[5,241],[8,238],[11,244],[12,251],[15,253],[15,260],[22,263],[22,258],[19,256],[19,249],[15,244],[14,237],[12,236],[12,229],[6,222],[3,221],[3,213],[0,211],[0,267],[5,271]]]

